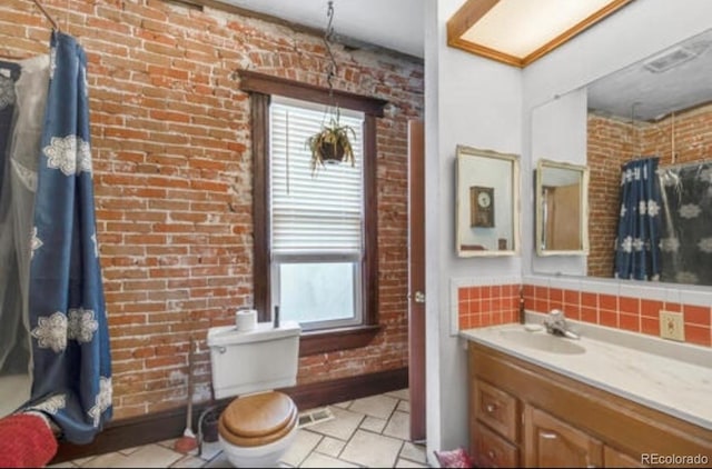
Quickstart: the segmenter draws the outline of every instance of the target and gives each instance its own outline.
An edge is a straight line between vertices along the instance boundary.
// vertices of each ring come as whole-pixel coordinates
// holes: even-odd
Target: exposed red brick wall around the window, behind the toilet
[[[249,68],[326,86],[322,38],[160,0],[44,0],[89,59],[98,239],[115,419],[184,406],[190,335],[196,400],[209,398],[206,330],[251,303]],[[30,1],[0,3],[0,56],[48,51]],[[386,99],[378,120],[379,318],[365,348],[300,360],[298,382],[407,363],[407,120],[423,118],[423,64],[334,49],[335,88]]]

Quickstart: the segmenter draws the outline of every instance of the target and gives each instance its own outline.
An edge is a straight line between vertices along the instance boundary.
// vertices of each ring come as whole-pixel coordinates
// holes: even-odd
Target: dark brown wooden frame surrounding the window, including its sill
[[[259,321],[270,318],[271,286],[269,266],[269,102],[273,94],[322,104],[334,100],[339,107],[362,111],[364,119],[364,232],[365,257],[362,269],[363,323],[354,327],[320,329],[301,335],[299,356],[346,350],[368,345],[380,330],[378,325],[378,216],[377,216],[377,146],[376,118],[384,116],[385,100],[329,90],[279,77],[241,70],[240,90],[250,93],[254,197],[254,305]]]

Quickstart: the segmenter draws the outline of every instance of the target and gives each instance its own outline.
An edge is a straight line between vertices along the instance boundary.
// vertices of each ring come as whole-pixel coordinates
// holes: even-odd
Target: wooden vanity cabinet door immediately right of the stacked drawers
[[[530,468],[602,467],[603,445],[531,406],[524,408],[524,465]]]

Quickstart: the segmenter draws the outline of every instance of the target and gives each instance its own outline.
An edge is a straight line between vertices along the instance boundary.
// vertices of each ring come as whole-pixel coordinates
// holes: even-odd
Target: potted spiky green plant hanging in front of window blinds
[[[322,130],[307,139],[307,146],[312,151],[313,176],[325,163],[350,162],[352,167],[355,164],[349,133],[356,138],[356,132],[350,126],[340,123],[337,109],[336,118],[332,117],[328,126],[323,126]]]

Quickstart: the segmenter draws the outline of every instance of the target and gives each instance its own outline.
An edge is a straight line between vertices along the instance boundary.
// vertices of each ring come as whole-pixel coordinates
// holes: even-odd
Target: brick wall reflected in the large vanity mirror
[[[661,167],[673,162],[709,160],[712,156],[712,104],[654,123],[632,124],[630,121],[589,114],[587,124],[587,162],[591,170],[589,276],[611,278],[620,218],[621,164],[637,156],[657,156]]]

